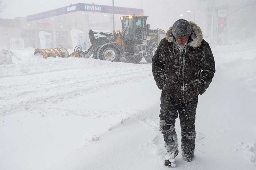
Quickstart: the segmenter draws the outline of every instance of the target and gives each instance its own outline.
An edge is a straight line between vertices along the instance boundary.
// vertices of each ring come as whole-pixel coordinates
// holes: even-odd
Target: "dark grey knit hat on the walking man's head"
[[[174,22],[172,34],[174,37],[182,38],[188,36],[192,32],[192,27],[185,19],[179,19]]]

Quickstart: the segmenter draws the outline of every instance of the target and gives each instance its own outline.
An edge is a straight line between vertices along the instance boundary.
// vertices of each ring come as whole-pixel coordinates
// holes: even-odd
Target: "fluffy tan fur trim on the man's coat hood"
[[[189,21],[191,27],[192,27],[192,34],[191,34],[191,38],[192,41],[190,41],[187,45],[191,46],[193,48],[197,48],[201,45],[202,41],[203,41],[203,33],[201,28],[192,21]],[[172,34],[172,27],[170,27],[170,29],[166,32],[166,39],[171,43],[174,41],[174,36]]]

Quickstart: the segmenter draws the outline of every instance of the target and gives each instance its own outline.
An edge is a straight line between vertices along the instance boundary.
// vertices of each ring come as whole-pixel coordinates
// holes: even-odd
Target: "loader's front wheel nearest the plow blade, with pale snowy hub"
[[[116,48],[108,47],[101,51],[102,52],[98,56],[100,60],[106,60],[111,62],[118,62],[120,60],[120,53]]]

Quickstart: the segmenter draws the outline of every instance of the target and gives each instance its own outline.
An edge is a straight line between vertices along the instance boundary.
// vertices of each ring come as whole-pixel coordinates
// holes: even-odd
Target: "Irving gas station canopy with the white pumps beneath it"
[[[104,14],[103,14],[104,13]],[[112,14],[117,15],[113,18]],[[118,16],[143,15],[143,9],[98,5],[95,3],[77,3],[34,15],[27,16],[27,28],[36,31],[28,46],[33,44],[41,48],[55,48],[62,44],[68,48],[81,45],[84,49],[90,47],[89,29],[97,32],[111,32],[120,30],[121,23]],[[114,21],[113,21],[114,19]],[[115,22],[116,28],[113,28]],[[28,34],[30,35],[30,34]],[[47,40],[47,42],[46,42]]]

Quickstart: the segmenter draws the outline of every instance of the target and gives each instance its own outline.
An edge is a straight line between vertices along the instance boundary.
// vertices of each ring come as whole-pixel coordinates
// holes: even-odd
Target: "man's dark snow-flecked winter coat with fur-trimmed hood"
[[[184,47],[177,45],[170,27],[152,58],[156,84],[175,104],[189,102],[202,95],[215,73],[209,44],[203,40],[200,27],[194,22],[189,23],[192,34]]]

